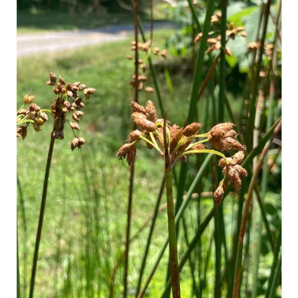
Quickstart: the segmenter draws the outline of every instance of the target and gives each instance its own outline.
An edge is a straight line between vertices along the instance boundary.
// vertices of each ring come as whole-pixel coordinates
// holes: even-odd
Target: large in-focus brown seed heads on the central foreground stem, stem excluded
[[[177,124],[170,125],[169,121],[164,121],[157,117],[154,103],[147,101],[143,107],[135,101],[131,102],[133,113],[131,118],[139,126],[128,135],[127,144],[124,144],[117,153],[117,157],[122,160],[126,159],[128,165],[132,165],[136,159],[136,143],[145,141],[147,148],[155,148],[165,159],[165,143],[170,156],[170,166],[172,167],[178,161],[187,162],[187,156],[194,153],[210,152],[223,156],[219,160],[219,166],[223,169],[224,179],[220,182],[218,189],[214,193],[216,204],[220,204],[224,198],[224,191],[231,182],[235,191],[241,188],[241,178],[247,176],[247,172],[240,166],[244,159],[246,147],[237,141],[237,133],[232,128],[231,122],[219,123],[215,125],[208,133],[198,134],[202,124],[191,123],[186,127],[180,128]],[[164,142],[164,124],[166,125],[166,142]],[[194,142],[195,138],[205,138],[201,141]],[[225,157],[223,153],[215,150],[206,150],[203,143],[209,142],[212,147],[220,151],[240,150],[232,157]]]

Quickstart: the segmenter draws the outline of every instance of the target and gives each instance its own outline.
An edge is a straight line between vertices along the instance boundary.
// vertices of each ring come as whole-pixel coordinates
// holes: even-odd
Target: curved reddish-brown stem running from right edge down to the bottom
[[[240,297],[243,239],[244,239],[244,234],[245,234],[245,230],[246,230],[246,223],[247,223],[247,218],[248,218],[248,214],[249,214],[249,207],[250,207],[250,203],[251,203],[251,200],[252,200],[252,192],[253,192],[253,189],[254,189],[254,187],[257,183],[257,177],[258,177],[258,174],[261,170],[261,167],[262,167],[262,164],[263,164],[263,159],[266,156],[266,153],[268,152],[268,150],[269,150],[269,148],[272,144],[273,138],[277,135],[280,128],[281,128],[281,120],[277,124],[276,128],[274,129],[274,132],[272,134],[270,143],[267,146],[264,147],[264,149],[263,149],[263,151],[260,155],[260,158],[259,158],[259,160],[256,164],[254,173],[252,175],[252,180],[250,181],[250,184],[249,184],[249,188],[248,188],[248,192],[247,192],[247,198],[246,198],[246,201],[245,201],[245,206],[244,206],[243,215],[242,215],[242,219],[241,219],[239,237],[238,237],[238,246],[237,246],[237,254],[236,254],[236,266],[235,266],[235,278],[234,278],[233,294],[232,294],[233,298],[239,298]]]

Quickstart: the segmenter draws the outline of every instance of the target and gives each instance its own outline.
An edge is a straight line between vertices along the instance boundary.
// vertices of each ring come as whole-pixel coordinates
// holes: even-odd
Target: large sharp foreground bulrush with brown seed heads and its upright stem
[[[147,148],[156,149],[165,161],[165,179],[167,193],[167,217],[170,249],[170,269],[173,297],[180,297],[179,267],[177,256],[177,239],[175,228],[175,214],[172,191],[172,168],[178,162],[187,162],[188,156],[194,153],[213,153],[221,157],[219,165],[223,169],[223,179],[218,189],[214,192],[216,204],[220,204],[224,198],[224,191],[230,181],[235,191],[241,188],[241,178],[247,176],[246,170],[241,167],[246,147],[237,141],[237,133],[232,129],[233,123],[220,123],[215,125],[209,132],[199,134],[201,123],[193,122],[186,127],[170,125],[166,119],[158,118],[154,103],[147,101],[146,107],[132,101],[133,113],[131,118],[141,130],[134,130],[128,136],[128,143],[118,151],[117,157],[126,159],[128,165],[133,165],[136,159],[136,144],[145,141]],[[202,138],[200,141],[194,141]],[[204,143],[209,142],[215,149],[230,151],[240,150],[231,158],[223,153],[206,149]]]

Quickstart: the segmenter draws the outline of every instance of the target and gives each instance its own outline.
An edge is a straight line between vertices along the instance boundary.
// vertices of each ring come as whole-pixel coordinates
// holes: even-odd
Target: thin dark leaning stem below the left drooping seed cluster
[[[46,162],[46,173],[44,175],[44,188],[43,188],[43,192],[42,192],[41,207],[40,207],[37,235],[36,235],[36,241],[35,241],[35,250],[34,250],[34,256],[33,256],[29,298],[33,297],[33,291],[34,291],[35,274],[36,274],[37,261],[38,261],[38,249],[39,249],[39,243],[41,240],[42,224],[44,221],[44,209],[46,207],[46,194],[47,194],[47,189],[48,189],[49,174],[50,174],[50,168],[51,168],[54,143],[55,143],[55,139],[51,138],[48,159]]]

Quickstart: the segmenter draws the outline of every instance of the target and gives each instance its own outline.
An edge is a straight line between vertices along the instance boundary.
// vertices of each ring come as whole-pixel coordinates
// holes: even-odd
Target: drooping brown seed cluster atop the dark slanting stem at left
[[[80,126],[76,122],[80,122],[80,118],[84,115],[81,109],[85,106],[82,98],[79,96],[80,92],[83,92],[86,99],[90,98],[90,95],[95,92],[94,88],[86,88],[85,84],[80,82],[66,83],[63,77],[60,77],[57,82],[57,76],[54,73],[50,73],[49,81],[46,82],[49,86],[55,86],[53,91],[57,95],[54,103],[51,105],[52,114],[54,117],[54,127],[51,137],[54,139],[64,139],[64,124],[67,121],[72,128],[74,134],[75,130],[80,130]],[[72,119],[75,122],[70,122],[66,118],[67,113],[72,114]],[[76,147],[81,148],[85,143],[85,139],[77,137],[72,140],[71,148],[74,150]]]

